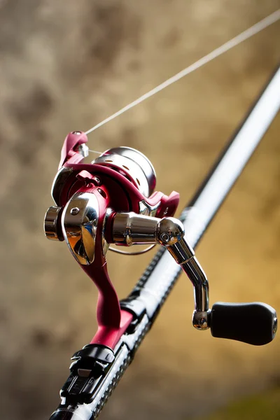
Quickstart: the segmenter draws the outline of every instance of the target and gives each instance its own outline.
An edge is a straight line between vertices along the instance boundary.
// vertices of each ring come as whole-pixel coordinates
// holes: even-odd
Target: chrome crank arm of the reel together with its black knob
[[[155,218],[116,213],[111,224],[113,243],[123,246],[160,244],[167,248],[193,283],[195,310],[193,326],[211,328],[214,337],[235,339],[253,345],[271,342],[276,334],[276,311],[268,304],[217,302],[209,309],[209,283],[193,248],[185,237],[183,224],[176,218]]]

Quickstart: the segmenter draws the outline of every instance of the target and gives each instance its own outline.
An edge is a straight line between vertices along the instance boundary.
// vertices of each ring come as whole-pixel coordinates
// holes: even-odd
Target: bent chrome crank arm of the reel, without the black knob
[[[167,248],[193,283],[195,311],[193,325],[199,330],[209,328],[209,284],[195,251],[184,237],[183,223],[176,218],[155,218],[131,213],[117,213],[113,221],[113,243],[130,246],[158,243]]]

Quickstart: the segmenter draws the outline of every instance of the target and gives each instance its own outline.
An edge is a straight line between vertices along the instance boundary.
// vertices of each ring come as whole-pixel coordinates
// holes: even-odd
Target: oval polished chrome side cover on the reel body
[[[98,218],[98,201],[90,193],[74,194],[62,212],[64,239],[73,256],[82,265],[89,265],[94,260]]]

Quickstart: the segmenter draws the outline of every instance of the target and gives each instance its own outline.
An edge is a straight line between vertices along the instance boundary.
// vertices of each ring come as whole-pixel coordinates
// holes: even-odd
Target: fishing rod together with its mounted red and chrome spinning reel
[[[209,282],[194,248],[279,107],[277,69],[180,219],[173,217],[179,194],[153,192],[155,170],[142,153],[112,148],[85,164],[86,134],[76,131],[66,137],[52,185],[56,206],[46,213],[45,235],[66,241],[99,289],[99,327],[90,344],[73,354],[61,403],[50,420],[97,419],[181,272],[193,283],[195,328],[253,345],[272,341],[277,318],[268,304],[217,302],[210,309]],[[111,244],[162,246],[132,293],[120,301],[106,270]]]

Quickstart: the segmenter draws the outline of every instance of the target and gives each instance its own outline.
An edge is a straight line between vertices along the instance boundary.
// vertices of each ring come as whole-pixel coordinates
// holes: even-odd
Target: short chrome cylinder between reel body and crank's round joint
[[[117,213],[113,221],[113,243],[124,246],[157,244],[159,220],[132,211]]]

